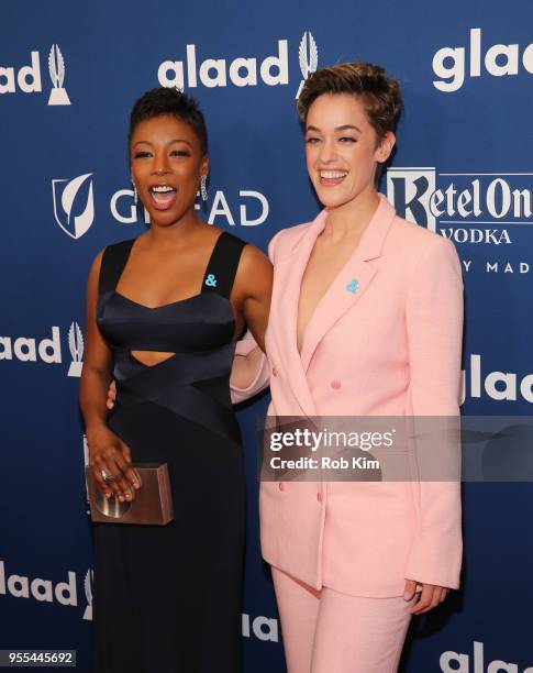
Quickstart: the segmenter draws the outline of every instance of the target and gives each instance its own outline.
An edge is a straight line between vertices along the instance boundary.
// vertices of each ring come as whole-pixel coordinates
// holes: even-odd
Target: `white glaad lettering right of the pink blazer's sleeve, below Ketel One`
[[[520,398],[533,404],[533,374],[521,377],[514,372],[484,372],[478,353],[470,354],[468,365],[462,372],[462,405],[467,395],[480,399],[484,393],[496,401],[517,401]]]

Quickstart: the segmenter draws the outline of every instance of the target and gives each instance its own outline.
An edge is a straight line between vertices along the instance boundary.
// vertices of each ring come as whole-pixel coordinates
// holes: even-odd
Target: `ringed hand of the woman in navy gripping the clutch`
[[[106,426],[87,431],[89,465],[98,485],[107,498],[115,495],[119,500],[132,501],[141,488],[141,477],[132,467],[130,448]],[[109,477],[103,478],[102,471]]]

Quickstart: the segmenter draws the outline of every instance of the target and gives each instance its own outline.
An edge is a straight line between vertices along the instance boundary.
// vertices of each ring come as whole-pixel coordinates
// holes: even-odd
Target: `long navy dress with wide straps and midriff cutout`
[[[96,671],[238,673],[245,479],[229,378],[244,242],[222,233],[198,295],[158,308],[115,290],[133,242],[107,247],[100,272],[118,390],[108,424],[134,463],[168,463],[175,518],[95,525]],[[175,355],[147,366],[132,351]]]

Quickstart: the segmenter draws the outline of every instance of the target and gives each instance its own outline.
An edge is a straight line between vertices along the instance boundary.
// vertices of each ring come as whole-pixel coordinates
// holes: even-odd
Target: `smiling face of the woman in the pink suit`
[[[393,145],[391,132],[378,141],[360,98],[319,96],[306,120],[306,159],[323,206],[349,207],[359,196],[375,192],[377,165],[387,161]]]

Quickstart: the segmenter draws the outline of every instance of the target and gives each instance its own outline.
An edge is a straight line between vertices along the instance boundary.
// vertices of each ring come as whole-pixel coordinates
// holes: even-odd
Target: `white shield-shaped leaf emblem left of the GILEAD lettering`
[[[95,220],[95,197],[92,194],[91,176],[92,173],[87,173],[71,180],[52,180],[56,222],[66,234],[75,240],[80,239],[87,233]],[[74,214],[75,201],[81,206],[78,211],[79,214]]]

